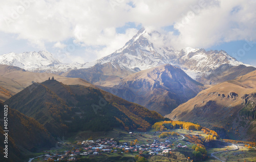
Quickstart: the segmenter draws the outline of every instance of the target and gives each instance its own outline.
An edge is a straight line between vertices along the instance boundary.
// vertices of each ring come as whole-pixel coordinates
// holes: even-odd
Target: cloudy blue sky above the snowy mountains
[[[165,34],[177,50],[222,49],[256,66],[253,0],[10,0],[0,8],[0,55],[48,50],[64,62],[90,62],[145,27]]]

